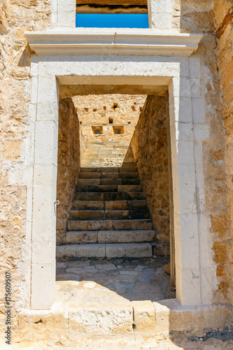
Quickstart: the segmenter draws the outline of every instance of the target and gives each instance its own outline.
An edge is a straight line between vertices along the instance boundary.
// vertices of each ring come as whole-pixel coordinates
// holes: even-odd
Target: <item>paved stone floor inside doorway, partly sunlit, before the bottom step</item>
[[[92,297],[96,301],[98,296],[101,300],[104,295],[107,299],[109,297],[111,302],[122,302],[122,299],[154,302],[176,297],[170,289],[170,276],[163,269],[168,262],[167,257],[57,262],[57,281],[80,282],[69,282],[66,297],[67,293],[71,295],[76,293],[83,300],[88,289],[88,304]],[[66,283],[59,284],[61,287],[59,294],[61,294]]]

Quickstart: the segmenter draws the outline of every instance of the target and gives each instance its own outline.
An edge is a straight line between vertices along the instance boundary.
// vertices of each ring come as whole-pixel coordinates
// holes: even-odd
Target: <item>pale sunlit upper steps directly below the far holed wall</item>
[[[130,141],[86,141],[82,167],[121,167],[123,162],[134,162]]]

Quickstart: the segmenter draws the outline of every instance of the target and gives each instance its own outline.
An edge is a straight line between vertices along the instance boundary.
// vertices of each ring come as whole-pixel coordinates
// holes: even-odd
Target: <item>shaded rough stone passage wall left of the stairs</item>
[[[57,151],[57,244],[62,243],[78,180],[84,138],[72,99],[59,101]]]

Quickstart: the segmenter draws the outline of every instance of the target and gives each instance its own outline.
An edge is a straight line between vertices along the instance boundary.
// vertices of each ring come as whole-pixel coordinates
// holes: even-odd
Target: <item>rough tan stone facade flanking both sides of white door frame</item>
[[[204,34],[199,49],[190,58],[190,70],[199,70],[200,76],[200,78],[191,78],[192,85],[196,87],[195,96],[193,96],[194,118],[199,118],[200,123],[206,123],[203,126],[206,141],[203,141],[203,150],[201,150],[205,183],[205,205],[202,210],[209,217],[206,236],[210,228],[213,235],[212,241],[209,239],[204,248],[208,250],[209,244],[213,248],[213,263],[216,264],[213,300],[216,302],[225,302],[225,297],[232,300],[230,245],[232,236],[229,215],[229,211],[232,210],[232,204],[230,204],[232,197],[232,155],[230,153],[232,83],[229,80],[232,59],[232,23],[227,24],[226,17],[231,2],[231,0],[176,0],[174,3],[176,29],[182,32]],[[15,307],[29,305],[31,247],[26,244],[25,235],[27,222],[31,225],[30,218],[27,218],[26,204],[30,203],[31,198],[31,188],[28,184],[31,183],[33,173],[34,120],[28,111],[31,98],[31,51],[24,31],[43,30],[49,26],[51,26],[49,0],[0,1],[0,148],[3,150],[0,155],[1,272],[3,272],[0,279],[1,307],[6,270],[10,270],[13,276]],[[200,60],[200,67],[196,64],[196,59]],[[223,111],[220,83],[223,90]],[[35,107],[34,102],[31,108],[33,106]],[[203,106],[206,107],[204,116]],[[227,133],[227,151],[225,132]],[[216,218],[218,225],[215,225],[213,218]],[[30,241],[30,237],[27,241]],[[209,265],[212,265],[212,260]]]

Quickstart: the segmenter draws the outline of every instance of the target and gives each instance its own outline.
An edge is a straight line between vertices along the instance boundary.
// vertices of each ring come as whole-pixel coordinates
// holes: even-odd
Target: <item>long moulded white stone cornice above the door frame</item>
[[[52,29],[26,31],[38,55],[166,55],[190,56],[201,34],[158,32],[153,29]]]

